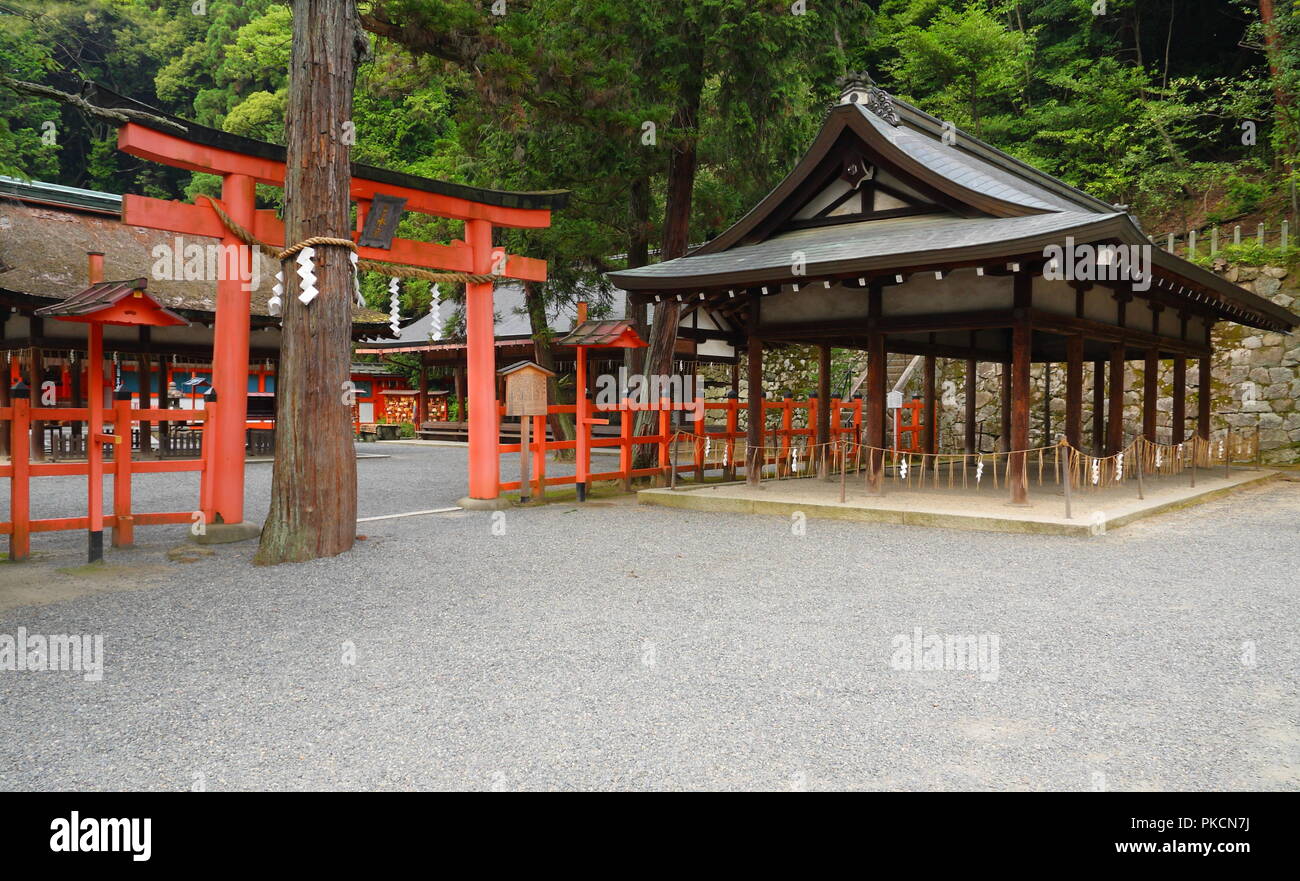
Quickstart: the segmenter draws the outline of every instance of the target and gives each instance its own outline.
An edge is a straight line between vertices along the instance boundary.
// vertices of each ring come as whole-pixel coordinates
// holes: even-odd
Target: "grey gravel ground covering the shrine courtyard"
[[[463,448],[381,451],[360,516],[463,492]],[[107,658],[0,672],[0,789],[1300,789],[1297,483],[1093,539],[610,500],[360,531],[255,568],[142,528],[109,593],[0,611]],[[104,580],[83,535],[34,544],[0,590]],[[916,628],[996,635],[996,678],[894,669]]]

